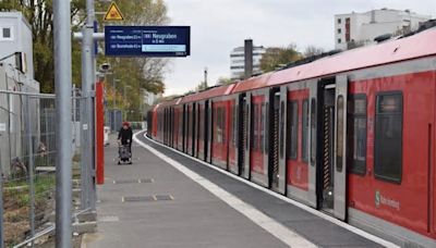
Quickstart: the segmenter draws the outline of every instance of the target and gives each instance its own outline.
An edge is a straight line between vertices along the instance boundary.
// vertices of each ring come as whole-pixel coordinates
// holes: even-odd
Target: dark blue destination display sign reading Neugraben
[[[110,57],[186,57],[189,26],[105,26],[105,54]]]

